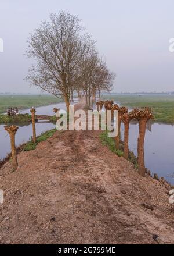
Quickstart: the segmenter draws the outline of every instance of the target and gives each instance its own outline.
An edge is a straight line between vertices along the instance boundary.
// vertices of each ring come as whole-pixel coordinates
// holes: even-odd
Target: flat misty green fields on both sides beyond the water
[[[103,95],[103,99],[113,99],[129,108],[150,106],[155,121],[174,123],[174,95]],[[20,110],[59,102],[53,95],[0,95],[0,113],[14,106]]]

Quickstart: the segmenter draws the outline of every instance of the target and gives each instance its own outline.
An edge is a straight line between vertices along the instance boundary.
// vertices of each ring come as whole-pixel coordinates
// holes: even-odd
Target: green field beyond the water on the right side
[[[150,106],[155,121],[174,123],[174,95],[103,95],[103,99],[113,99],[129,108]]]

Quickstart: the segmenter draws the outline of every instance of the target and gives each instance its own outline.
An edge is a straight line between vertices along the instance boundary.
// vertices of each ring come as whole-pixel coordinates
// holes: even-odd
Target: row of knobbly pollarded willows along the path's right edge
[[[99,101],[96,102],[97,111],[102,110],[103,105],[107,110],[111,110],[112,112],[118,111],[118,135],[114,138],[114,143],[111,142],[112,139],[108,138],[108,144],[112,151],[115,151],[118,155],[123,155],[125,159],[129,158],[129,124],[131,120],[137,120],[139,122],[139,137],[137,140],[137,167],[139,170],[139,174],[145,176],[146,168],[144,163],[144,137],[146,133],[146,124],[149,119],[153,119],[153,113],[151,108],[145,107],[141,109],[133,109],[131,112],[128,112],[128,108],[125,106],[119,107],[117,104],[114,104],[113,101]],[[120,150],[120,127],[121,122],[124,123],[124,151]],[[102,135],[105,136],[106,134]]]

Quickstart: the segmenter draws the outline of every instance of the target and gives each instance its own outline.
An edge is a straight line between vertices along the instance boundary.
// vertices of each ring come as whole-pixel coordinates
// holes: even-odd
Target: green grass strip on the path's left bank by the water
[[[56,129],[45,131],[45,133],[42,133],[40,136],[37,137],[36,143],[33,143],[32,140],[28,141],[28,143],[24,145],[23,150],[24,151],[34,150],[38,143],[40,143],[41,141],[47,140],[49,137],[53,136],[55,132],[56,132]]]

